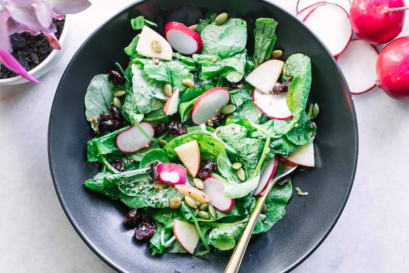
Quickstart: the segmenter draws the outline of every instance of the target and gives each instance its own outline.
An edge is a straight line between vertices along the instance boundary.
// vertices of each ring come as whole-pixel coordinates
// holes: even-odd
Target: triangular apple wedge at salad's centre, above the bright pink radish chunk
[[[200,168],[200,150],[197,140],[192,140],[175,148],[175,153],[179,156],[184,167],[195,177]]]

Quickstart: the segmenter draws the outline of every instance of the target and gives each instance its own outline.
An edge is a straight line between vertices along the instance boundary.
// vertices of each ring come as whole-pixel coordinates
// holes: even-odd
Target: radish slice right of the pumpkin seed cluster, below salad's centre
[[[230,211],[234,207],[234,199],[225,196],[226,184],[224,182],[212,176],[207,176],[203,182],[205,187],[202,189],[202,192],[210,196],[210,205],[222,212]]]

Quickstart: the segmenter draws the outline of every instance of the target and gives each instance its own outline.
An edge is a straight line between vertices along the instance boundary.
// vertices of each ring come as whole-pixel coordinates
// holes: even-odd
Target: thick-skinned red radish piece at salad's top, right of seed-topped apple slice
[[[164,29],[166,40],[182,54],[199,53],[203,43],[200,34],[178,22],[169,22]]]

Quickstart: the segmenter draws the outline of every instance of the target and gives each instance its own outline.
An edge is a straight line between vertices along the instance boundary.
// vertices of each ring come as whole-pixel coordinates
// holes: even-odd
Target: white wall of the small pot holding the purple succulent
[[[34,78],[38,78],[43,76],[45,73],[50,71],[60,59],[63,57],[65,52],[67,51],[70,43],[72,41],[72,37],[74,36],[74,29],[75,29],[75,21],[72,20],[71,16],[65,16],[65,23],[63,27],[63,32],[61,32],[61,37],[58,40],[61,45],[61,50],[53,50],[44,61],[42,61],[39,65],[35,68],[31,69],[28,74],[32,75]],[[0,85],[15,85],[20,83],[28,82],[27,79],[16,76],[8,79],[0,79]]]

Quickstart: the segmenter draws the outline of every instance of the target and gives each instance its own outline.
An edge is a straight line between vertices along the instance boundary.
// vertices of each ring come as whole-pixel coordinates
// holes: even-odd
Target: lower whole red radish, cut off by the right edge
[[[389,43],[376,61],[376,85],[389,97],[409,100],[409,36]]]

